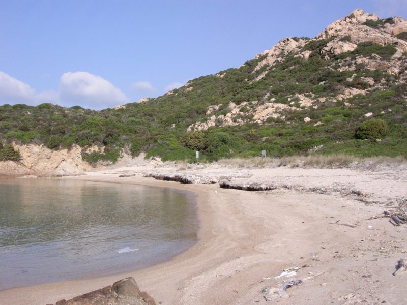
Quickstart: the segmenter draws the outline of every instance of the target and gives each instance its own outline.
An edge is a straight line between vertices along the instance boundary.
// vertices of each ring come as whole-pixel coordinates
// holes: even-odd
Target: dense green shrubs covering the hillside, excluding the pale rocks
[[[203,160],[211,161],[222,157],[258,156],[263,149],[268,156],[305,155],[321,145],[319,154],[407,156],[407,85],[398,83],[394,75],[367,70],[361,65],[356,65],[354,71],[338,69],[340,65],[352,65],[360,55],[369,57],[374,53],[388,60],[395,53],[394,46],[364,43],[352,52],[331,54],[326,60],[321,50],[329,41],[310,40],[305,44],[301,51],[311,51],[308,60],[293,54],[273,69],[266,70],[264,66],[253,72],[263,59],[260,56],[238,69],[196,78],[172,94],[144,103],[130,103],[125,109],[94,111],[51,104],[3,105],[0,106],[0,139],[4,143],[44,143],[52,149],[69,148],[73,144],[84,148],[92,144],[105,146],[104,154],[83,153],[83,159],[90,163],[115,162],[122,149],[133,156],[145,151],[148,157],[190,161],[195,157],[195,150],[201,151]],[[261,73],[266,74],[252,82]],[[369,88],[363,78],[373,78],[376,83],[385,85],[366,95],[336,99],[346,88]],[[192,89],[185,90],[187,87]],[[295,94],[312,96],[315,100],[326,98],[326,102],[301,107],[297,98],[288,99]],[[236,105],[249,102],[241,109],[241,117],[250,120],[253,116],[250,110],[271,98],[276,103],[297,106],[298,110],[287,109],[284,118],[270,117],[266,124],[186,131],[191,124],[205,121],[211,115],[225,115],[230,102]],[[258,101],[257,106],[253,101]],[[219,109],[207,114],[210,105],[219,105]],[[367,112],[372,112],[376,120],[368,120],[364,115]],[[305,117],[321,124],[307,124]]]

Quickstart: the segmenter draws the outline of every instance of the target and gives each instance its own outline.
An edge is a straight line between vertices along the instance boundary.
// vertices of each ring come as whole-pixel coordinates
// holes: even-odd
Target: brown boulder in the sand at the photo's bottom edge
[[[133,278],[126,278],[112,286],[67,301],[65,299],[57,301],[55,305],[156,305],[156,303],[147,292],[140,291]]]

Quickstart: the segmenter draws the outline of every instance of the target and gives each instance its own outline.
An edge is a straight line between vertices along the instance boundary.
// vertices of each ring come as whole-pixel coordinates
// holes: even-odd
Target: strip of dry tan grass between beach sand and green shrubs
[[[397,167],[407,165],[404,157],[379,156],[373,158],[359,158],[351,155],[309,155],[309,156],[286,156],[282,158],[231,158],[221,159],[220,165],[247,168],[265,167],[313,167],[313,168],[347,168],[357,167],[362,169],[377,169],[381,166]]]

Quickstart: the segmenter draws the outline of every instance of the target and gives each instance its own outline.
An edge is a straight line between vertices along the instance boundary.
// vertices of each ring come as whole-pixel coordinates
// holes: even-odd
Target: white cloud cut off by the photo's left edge
[[[30,85],[0,71],[0,102],[33,103],[36,92]]]

